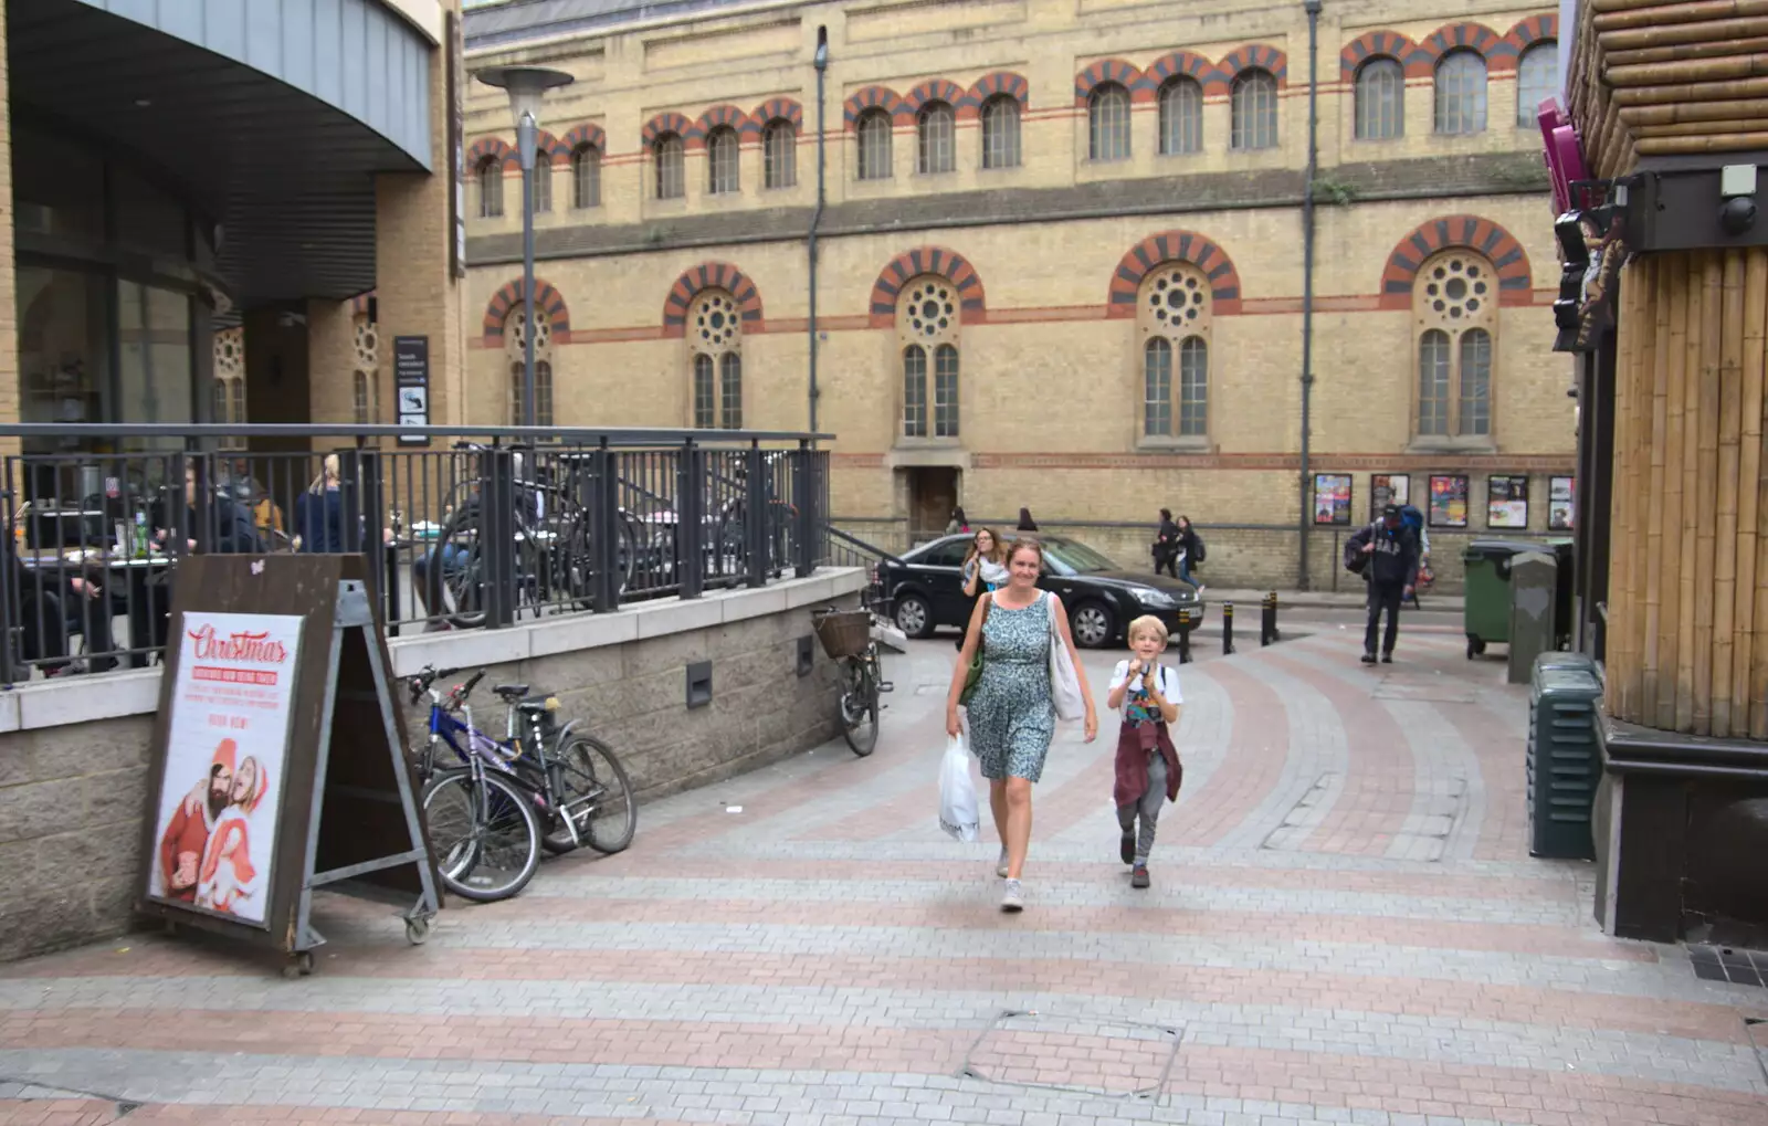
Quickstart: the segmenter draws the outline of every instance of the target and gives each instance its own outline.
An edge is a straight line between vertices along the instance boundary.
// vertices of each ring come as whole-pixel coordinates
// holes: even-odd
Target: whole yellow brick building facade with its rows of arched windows
[[[1299,4],[714,4],[589,27],[541,7],[470,9],[465,32],[469,67],[576,80],[546,103],[536,186],[543,421],[810,422],[820,32],[834,516],[900,546],[953,502],[1027,506],[1140,562],[1169,506],[1213,529],[1215,582],[1296,582]],[[1351,525],[1308,536],[1324,587],[1376,474],[1420,507],[1432,477],[1466,484],[1466,529],[1434,541],[1489,534],[1492,477],[1524,477],[1547,532],[1575,405],[1529,111],[1558,85],[1554,14],[1326,4],[1317,35],[1310,474],[1351,477]],[[469,88],[467,143],[465,414],[509,421],[522,189],[500,92]],[[1436,550],[1448,582],[1455,555]]]

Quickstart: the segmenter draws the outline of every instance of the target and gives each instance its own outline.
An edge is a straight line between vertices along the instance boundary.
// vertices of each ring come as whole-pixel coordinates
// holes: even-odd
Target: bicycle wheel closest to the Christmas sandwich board
[[[525,792],[472,771],[438,772],[424,792],[430,847],[444,887],[463,900],[507,900],[534,879],[541,825]]]

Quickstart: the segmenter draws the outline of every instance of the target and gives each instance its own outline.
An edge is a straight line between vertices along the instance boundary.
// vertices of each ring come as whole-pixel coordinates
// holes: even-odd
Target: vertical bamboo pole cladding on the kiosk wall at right
[[[1619,311],[1609,711],[1768,739],[1768,249],[1639,258]]]

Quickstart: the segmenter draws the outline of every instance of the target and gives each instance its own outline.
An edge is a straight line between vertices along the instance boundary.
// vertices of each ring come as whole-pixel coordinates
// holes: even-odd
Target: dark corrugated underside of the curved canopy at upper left
[[[157,168],[223,226],[242,308],[373,288],[373,173],[423,171],[375,129],[78,0],[7,0],[7,55],[14,106]]]

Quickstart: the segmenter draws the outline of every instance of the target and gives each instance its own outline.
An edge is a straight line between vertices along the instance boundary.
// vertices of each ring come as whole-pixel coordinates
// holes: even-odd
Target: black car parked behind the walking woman
[[[912,638],[932,636],[939,626],[964,628],[972,601],[964,596],[964,553],[972,536],[946,536],[907,552],[900,560],[879,564],[880,594],[889,599],[896,628]],[[1043,578],[1068,608],[1075,643],[1087,649],[1110,645],[1124,626],[1153,613],[1169,631],[1179,628],[1179,610],[1192,608],[1192,624],[1202,620],[1197,590],[1176,578],[1126,571],[1093,548],[1064,536],[1040,536]]]

